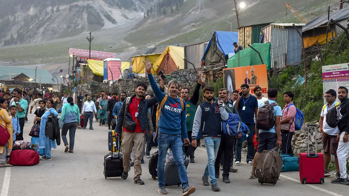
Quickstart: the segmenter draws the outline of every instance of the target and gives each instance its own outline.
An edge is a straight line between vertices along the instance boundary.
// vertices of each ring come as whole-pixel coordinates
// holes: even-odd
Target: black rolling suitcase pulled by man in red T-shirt
[[[106,153],[104,156],[103,171],[105,179],[110,177],[121,177],[122,172],[124,172],[124,167],[122,167],[122,164],[122,154],[120,154],[120,151],[118,153]]]

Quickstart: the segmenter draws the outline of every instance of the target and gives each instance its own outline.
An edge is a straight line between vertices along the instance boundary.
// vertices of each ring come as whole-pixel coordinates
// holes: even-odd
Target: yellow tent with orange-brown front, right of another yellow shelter
[[[174,70],[184,69],[184,47],[167,46],[154,63],[153,68],[156,74],[160,70],[171,74]]]

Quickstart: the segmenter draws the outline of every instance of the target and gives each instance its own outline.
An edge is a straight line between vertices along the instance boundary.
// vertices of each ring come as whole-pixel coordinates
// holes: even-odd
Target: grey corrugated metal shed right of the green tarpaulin
[[[261,29],[261,43],[270,42],[270,67],[282,68],[285,65],[299,65],[302,55],[302,39],[293,23],[272,23]],[[302,32],[305,24],[295,24]]]

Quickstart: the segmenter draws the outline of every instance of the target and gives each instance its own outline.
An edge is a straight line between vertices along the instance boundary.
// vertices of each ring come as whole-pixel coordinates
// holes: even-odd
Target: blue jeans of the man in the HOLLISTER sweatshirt
[[[177,165],[179,179],[182,182],[182,188],[189,186],[187,171],[183,163],[183,142],[181,134],[171,135],[159,133],[157,142],[159,145],[159,160],[157,162],[157,178],[159,187],[165,187],[164,168],[167,150],[170,148],[173,153],[174,162]],[[213,163],[214,164],[214,163]],[[214,168],[213,168],[214,171]]]

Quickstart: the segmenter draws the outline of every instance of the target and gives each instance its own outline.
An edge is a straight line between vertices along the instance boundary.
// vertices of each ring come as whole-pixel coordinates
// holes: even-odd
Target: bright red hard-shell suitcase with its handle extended
[[[309,129],[314,128],[314,137],[315,137],[315,153],[310,153],[309,150]],[[324,154],[316,153],[316,125],[308,125],[308,152],[299,153],[299,178],[300,182],[303,184],[315,184],[321,183],[324,181]]]

